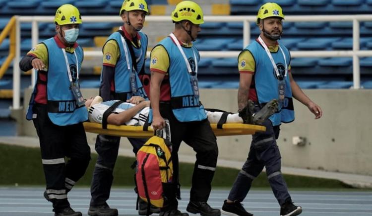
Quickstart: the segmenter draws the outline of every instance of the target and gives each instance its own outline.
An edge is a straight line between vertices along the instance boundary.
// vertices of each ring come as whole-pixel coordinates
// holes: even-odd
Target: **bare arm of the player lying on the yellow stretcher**
[[[107,123],[112,125],[124,125],[125,122],[129,121],[139,111],[148,106],[150,106],[150,101],[145,100],[121,113],[111,113],[107,117]]]

